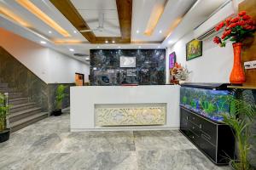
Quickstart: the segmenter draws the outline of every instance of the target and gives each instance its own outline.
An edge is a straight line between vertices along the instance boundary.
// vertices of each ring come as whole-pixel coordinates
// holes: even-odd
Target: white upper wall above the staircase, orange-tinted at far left
[[[45,48],[12,32],[0,28],[0,46],[46,83],[72,83],[75,72],[83,73],[85,82],[89,65],[53,49]]]

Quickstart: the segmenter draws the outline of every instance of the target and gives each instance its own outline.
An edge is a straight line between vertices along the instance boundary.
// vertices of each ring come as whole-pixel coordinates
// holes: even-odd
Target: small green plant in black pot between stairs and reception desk
[[[59,85],[56,89],[56,95],[55,95],[55,110],[52,112],[54,116],[60,116],[62,114],[62,102],[65,97],[67,97],[67,94],[65,94],[65,89],[67,86]]]

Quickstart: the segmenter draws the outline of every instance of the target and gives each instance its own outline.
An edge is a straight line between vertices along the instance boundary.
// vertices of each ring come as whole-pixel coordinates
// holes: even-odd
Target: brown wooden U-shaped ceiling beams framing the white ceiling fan
[[[79,14],[79,11],[73,6],[70,0],[49,0],[67,20],[69,20],[77,30],[92,29],[88,23]],[[132,0],[116,0],[116,5],[119,14],[119,26],[121,37],[96,37],[90,32],[83,32],[82,35],[90,43],[105,43],[115,41],[115,43],[130,43],[131,42],[131,14],[132,14]]]

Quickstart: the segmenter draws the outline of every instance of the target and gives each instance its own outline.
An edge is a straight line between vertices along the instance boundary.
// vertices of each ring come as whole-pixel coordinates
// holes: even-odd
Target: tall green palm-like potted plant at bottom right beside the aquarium
[[[250,125],[255,120],[256,106],[243,99],[231,99],[230,104],[230,114],[223,115],[223,122],[233,128],[238,151],[237,159],[230,161],[230,167],[233,170],[250,170],[253,169],[248,159],[248,151],[252,147],[249,139],[253,136]]]

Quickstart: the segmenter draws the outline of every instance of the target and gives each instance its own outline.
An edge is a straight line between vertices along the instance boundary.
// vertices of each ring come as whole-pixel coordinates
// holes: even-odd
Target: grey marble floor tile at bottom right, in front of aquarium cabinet
[[[217,168],[206,156],[195,149],[139,150],[137,161],[140,170],[213,170]]]

